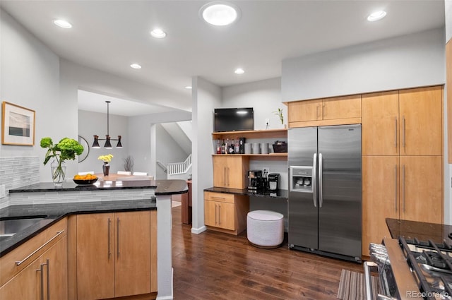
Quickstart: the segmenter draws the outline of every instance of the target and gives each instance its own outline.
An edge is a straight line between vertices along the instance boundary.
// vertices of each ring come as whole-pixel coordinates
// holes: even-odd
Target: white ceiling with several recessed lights
[[[0,6],[64,59],[159,86],[168,91],[167,99],[181,107],[191,101],[191,92],[184,87],[191,85],[192,76],[222,87],[277,78],[286,58],[444,26],[442,0],[230,2],[239,6],[242,17],[222,28],[199,18],[199,9],[208,1],[1,0]],[[387,11],[386,18],[366,20],[369,13],[381,9]],[[65,18],[73,28],[56,27],[55,18]],[[155,27],[165,30],[167,37],[151,37]],[[133,63],[143,68],[130,68]],[[237,67],[245,73],[234,74]],[[94,110],[95,102],[84,98],[88,94],[82,97],[81,109]],[[102,97],[104,112],[105,100]],[[157,99],[150,95],[138,102],[132,106],[141,114],[143,104]],[[97,104],[100,109],[102,104]],[[113,105],[110,108],[115,114]]]

